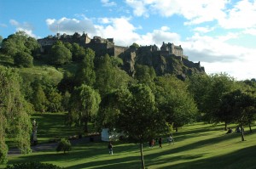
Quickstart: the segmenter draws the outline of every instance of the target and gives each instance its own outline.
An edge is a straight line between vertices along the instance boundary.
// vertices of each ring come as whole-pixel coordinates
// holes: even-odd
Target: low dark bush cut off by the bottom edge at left
[[[16,163],[13,166],[7,166],[5,169],[61,169],[60,166],[55,166],[49,163],[40,162],[22,162]]]

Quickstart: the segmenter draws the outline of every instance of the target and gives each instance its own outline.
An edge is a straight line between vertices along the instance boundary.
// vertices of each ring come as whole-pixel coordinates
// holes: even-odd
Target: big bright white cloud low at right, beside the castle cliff
[[[227,34],[223,37],[207,37],[195,34],[183,42],[183,50],[191,61],[201,61],[207,73],[228,73],[238,80],[255,78],[256,49],[230,45],[226,41],[236,38]]]

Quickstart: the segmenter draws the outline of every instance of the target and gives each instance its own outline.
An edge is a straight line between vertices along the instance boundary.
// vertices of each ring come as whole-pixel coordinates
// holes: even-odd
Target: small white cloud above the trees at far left
[[[25,31],[26,34],[30,37],[37,38],[36,35],[33,34],[33,26],[27,22],[20,24],[20,22],[16,20],[9,20],[10,25],[14,25],[16,27],[16,31]]]

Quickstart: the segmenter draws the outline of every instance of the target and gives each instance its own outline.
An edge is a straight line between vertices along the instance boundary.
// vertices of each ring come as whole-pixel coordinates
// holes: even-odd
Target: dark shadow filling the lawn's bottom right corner
[[[247,147],[245,149],[236,150],[227,155],[218,155],[208,159],[183,162],[177,165],[158,167],[158,168],[160,169],[164,169],[164,168],[253,169],[253,168],[256,168],[255,155],[256,155],[256,145]],[[164,161],[158,161],[158,163],[159,162],[164,162]]]

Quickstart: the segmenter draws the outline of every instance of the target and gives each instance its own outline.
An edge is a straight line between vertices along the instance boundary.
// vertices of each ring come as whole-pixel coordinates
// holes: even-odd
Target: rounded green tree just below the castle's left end
[[[50,54],[53,65],[64,65],[72,59],[70,50],[61,41],[55,42],[50,49]]]

